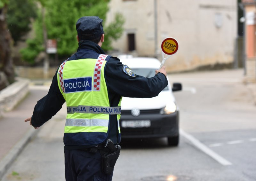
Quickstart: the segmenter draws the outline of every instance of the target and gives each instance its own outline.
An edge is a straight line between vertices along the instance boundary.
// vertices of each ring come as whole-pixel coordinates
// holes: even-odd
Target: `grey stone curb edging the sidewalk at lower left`
[[[6,171],[10,168],[13,161],[19,156],[21,151],[25,148],[28,142],[36,136],[38,130],[31,128],[21,139],[18,141],[12,149],[8,152],[8,154],[0,161],[0,180],[6,173]]]

